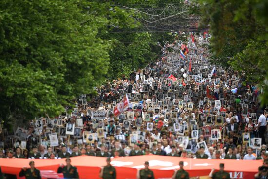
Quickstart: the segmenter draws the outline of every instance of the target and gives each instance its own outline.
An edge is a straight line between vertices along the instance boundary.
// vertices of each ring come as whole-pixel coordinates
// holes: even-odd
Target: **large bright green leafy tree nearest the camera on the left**
[[[0,1],[0,118],[55,116],[105,79],[111,43],[97,37],[106,23],[79,1]],[[12,120],[11,120],[12,119]]]

